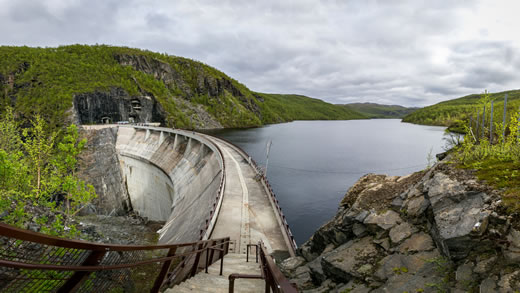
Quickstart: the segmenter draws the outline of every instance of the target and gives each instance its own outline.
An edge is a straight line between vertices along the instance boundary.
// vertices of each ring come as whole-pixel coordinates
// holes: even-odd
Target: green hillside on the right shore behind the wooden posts
[[[518,111],[520,106],[520,90],[511,90],[499,93],[489,93],[489,99],[494,100],[493,120],[501,122],[504,108],[504,95],[508,94],[508,116]],[[475,119],[477,109],[483,110],[484,94],[472,94],[469,96],[440,102],[438,104],[421,108],[403,118],[404,122],[424,125],[447,126],[452,131],[462,132],[463,125],[467,125],[470,117]],[[480,114],[482,115],[482,114]],[[490,104],[486,104],[486,121],[490,117]]]

